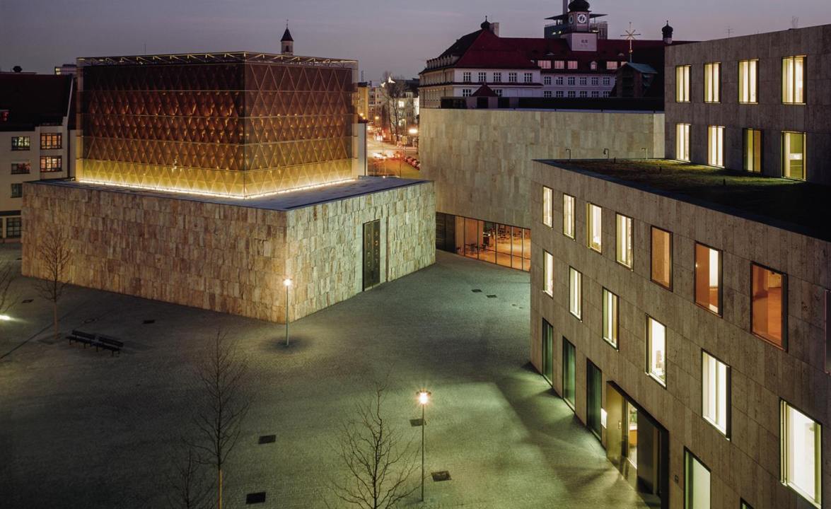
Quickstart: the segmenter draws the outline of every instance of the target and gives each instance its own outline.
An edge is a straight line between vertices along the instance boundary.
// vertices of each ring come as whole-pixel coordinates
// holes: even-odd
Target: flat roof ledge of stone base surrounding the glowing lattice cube
[[[338,184],[322,185],[316,188],[298,189],[283,193],[268,194],[258,198],[226,198],[195,193],[177,193],[175,191],[157,191],[155,189],[129,188],[117,185],[91,184],[74,180],[36,180],[32,184],[55,185],[69,188],[96,189],[111,193],[128,193],[154,198],[175,198],[194,202],[220,203],[234,207],[264,208],[267,210],[288,211],[296,208],[311,207],[322,203],[355,198],[365,194],[381,193],[396,188],[405,188],[416,184],[425,184],[428,180],[397,179],[395,177],[358,177]]]

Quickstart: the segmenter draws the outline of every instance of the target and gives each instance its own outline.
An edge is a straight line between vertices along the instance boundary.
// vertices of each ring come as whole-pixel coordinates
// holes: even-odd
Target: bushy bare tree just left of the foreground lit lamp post
[[[342,424],[335,446],[347,472],[332,482],[332,492],[341,502],[361,509],[391,509],[418,488],[410,486],[416,472],[412,442],[403,442],[401,433],[384,418],[386,387],[376,384],[375,397],[357,404],[355,416]]]

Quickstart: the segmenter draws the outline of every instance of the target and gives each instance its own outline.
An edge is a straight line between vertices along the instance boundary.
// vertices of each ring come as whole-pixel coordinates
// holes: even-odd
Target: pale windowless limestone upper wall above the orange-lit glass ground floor
[[[534,110],[421,111],[421,174],[436,210],[531,228],[534,159],[642,158],[664,154],[662,113]]]

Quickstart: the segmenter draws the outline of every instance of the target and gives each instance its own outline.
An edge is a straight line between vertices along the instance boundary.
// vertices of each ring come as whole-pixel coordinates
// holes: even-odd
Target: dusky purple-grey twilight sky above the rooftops
[[[591,2],[591,0],[590,0]],[[610,37],[632,21],[641,38],[701,40],[831,22],[829,0],[594,0]],[[297,55],[356,58],[364,79],[417,76],[425,60],[479,29],[487,14],[505,37],[542,37],[560,0],[0,0],[0,70],[52,72],[76,56],[279,52],[289,19]]]

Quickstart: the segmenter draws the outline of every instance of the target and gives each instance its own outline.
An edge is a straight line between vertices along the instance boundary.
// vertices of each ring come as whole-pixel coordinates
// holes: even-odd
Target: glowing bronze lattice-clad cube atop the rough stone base
[[[352,176],[354,61],[80,59],[78,180],[257,196]]]

